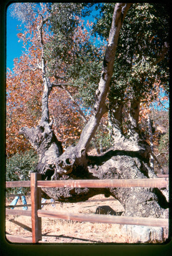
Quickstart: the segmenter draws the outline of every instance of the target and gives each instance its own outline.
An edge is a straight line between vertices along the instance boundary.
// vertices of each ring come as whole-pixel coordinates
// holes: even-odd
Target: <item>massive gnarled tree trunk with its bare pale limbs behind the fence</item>
[[[123,19],[131,4],[116,4],[113,14],[108,45],[103,60],[100,82],[95,95],[94,113],[85,125],[79,142],[76,146],[70,146],[62,153],[61,143],[52,130],[52,122],[49,118],[48,98],[53,88],[46,76],[46,62],[44,58],[44,42],[42,38],[42,26],[38,27],[39,42],[42,49],[41,66],[42,79],[44,81],[44,93],[42,96],[42,116],[37,127],[23,127],[20,134],[26,136],[39,155],[37,172],[44,175],[44,179],[142,179],[156,178],[149,167],[148,150],[138,144],[138,115],[139,100],[131,103],[131,137],[128,140],[122,137],[120,146],[114,147],[99,156],[88,156],[88,148],[103,114],[107,111],[105,99],[109,91],[113,73],[115,52],[118,44],[119,31]],[[115,118],[120,124],[122,105],[116,110]],[[134,134],[133,131],[135,132]],[[121,133],[122,134],[122,133]],[[137,136],[135,136],[135,134]],[[134,138],[134,139],[133,139]],[[115,140],[115,136],[114,136]],[[135,143],[132,144],[132,141]],[[128,143],[131,142],[131,143]],[[115,141],[118,145],[118,142]],[[62,202],[85,201],[88,198],[104,194],[112,195],[118,199],[125,208],[124,215],[142,217],[164,218],[168,203],[161,191],[149,188],[42,188],[47,198],[53,198]]]

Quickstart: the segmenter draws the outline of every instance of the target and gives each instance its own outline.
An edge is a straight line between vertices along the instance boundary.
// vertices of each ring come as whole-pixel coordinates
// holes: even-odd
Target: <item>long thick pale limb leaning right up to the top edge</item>
[[[100,120],[103,114],[107,111],[107,106],[105,104],[105,99],[107,92],[109,91],[110,81],[113,73],[113,65],[115,60],[115,53],[118,45],[119,31],[122,26],[123,19],[127,13],[127,10],[130,8],[131,4],[120,3],[115,5],[112,26],[110,30],[109,40],[107,48],[105,51],[105,56],[103,60],[102,72],[100,77],[100,82],[98,89],[96,90],[95,95],[95,104],[94,104],[94,113],[91,116],[88,123],[85,125],[79,142],[72,148],[73,159],[71,163],[67,166],[72,166],[74,164],[74,158],[76,163],[82,165],[84,163],[84,158],[88,151],[90,141],[93,138],[97,127],[100,123]],[[71,151],[71,149],[70,149]],[[64,155],[65,154],[65,155]],[[65,153],[62,154],[59,158],[59,162],[66,162],[66,155],[68,155],[68,149]],[[69,155],[68,155],[69,157]]]

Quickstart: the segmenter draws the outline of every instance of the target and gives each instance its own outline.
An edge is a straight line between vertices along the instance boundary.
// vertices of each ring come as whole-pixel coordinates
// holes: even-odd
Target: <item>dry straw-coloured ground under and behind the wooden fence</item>
[[[7,199],[6,205],[9,205],[13,198]],[[31,203],[30,196],[26,196],[27,204]],[[72,213],[95,214],[98,206],[108,205],[115,211],[124,211],[123,206],[113,197],[105,198],[98,195],[81,203],[51,203],[47,200],[44,210],[54,210]],[[18,200],[17,205],[22,204]],[[15,208],[22,209],[22,207]],[[28,207],[31,210],[31,206]],[[77,222],[59,219],[42,218],[42,241],[40,243],[137,243],[127,234],[121,233],[119,224],[104,224]],[[31,217],[28,216],[6,216],[6,234],[7,240],[14,242],[12,236],[27,238],[28,243],[32,243],[32,224]],[[26,242],[25,242],[26,243]]]

